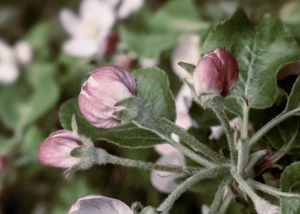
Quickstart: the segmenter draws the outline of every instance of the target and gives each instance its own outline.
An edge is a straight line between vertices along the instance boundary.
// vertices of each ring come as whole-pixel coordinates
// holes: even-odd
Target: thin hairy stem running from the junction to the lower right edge
[[[257,181],[252,180],[252,179],[247,179],[246,182],[249,183],[255,189],[258,189],[260,191],[264,191],[268,194],[272,194],[272,195],[275,195],[277,197],[283,196],[283,197],[300,198],[300,194],[290,193],[290,192],[282,192],[282,191],[280,191],[280,189],[274,188],[274,187],[269,186],[269,185],[265,185],[263,183],[257,182]]]

